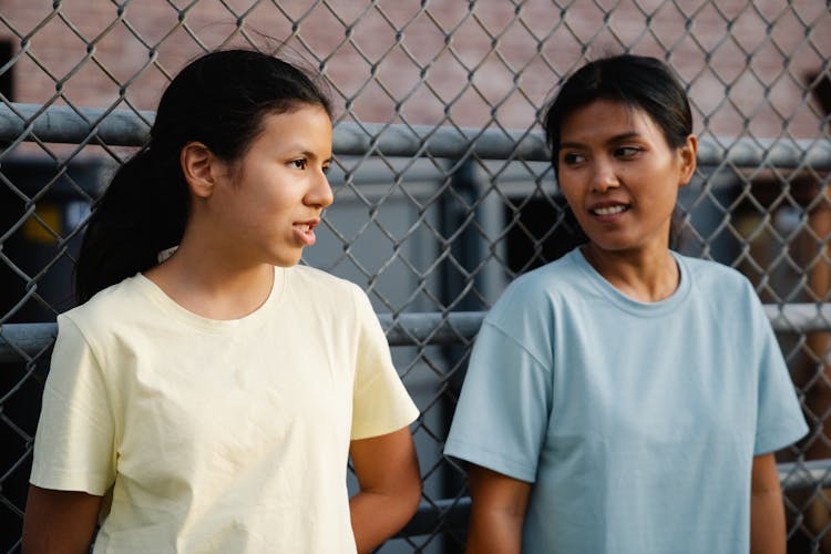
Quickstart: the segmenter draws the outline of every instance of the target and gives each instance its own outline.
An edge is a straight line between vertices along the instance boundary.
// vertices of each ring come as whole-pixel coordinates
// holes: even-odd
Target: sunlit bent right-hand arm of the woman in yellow
[[[416,513],[421,478],[409,428],[355,440],[349,447],[360,492],[349,499],[358,552],[392,536]]]

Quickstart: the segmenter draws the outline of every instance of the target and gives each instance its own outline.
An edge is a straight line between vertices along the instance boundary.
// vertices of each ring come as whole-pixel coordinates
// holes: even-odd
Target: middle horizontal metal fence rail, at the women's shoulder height
[[[765,305],[765,314],[777,332],[831,331],[831,304]],[[379,314],[390,346],[452,345],[471,341],[479,332],[484,311],[443,314]],[[0,325],[0,363],[31,359],[49,348],[57,324]]]

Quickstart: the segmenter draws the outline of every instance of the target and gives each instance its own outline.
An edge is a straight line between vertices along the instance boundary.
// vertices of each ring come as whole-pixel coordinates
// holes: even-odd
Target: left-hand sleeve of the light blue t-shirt
[[[551,410],[550,375],[527,349],[485,320],[444,454],[534,482]]]

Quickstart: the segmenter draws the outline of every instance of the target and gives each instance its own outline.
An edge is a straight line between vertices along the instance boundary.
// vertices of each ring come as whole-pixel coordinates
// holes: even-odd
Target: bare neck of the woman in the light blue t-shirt
[[[678,264],[668,248],[655,252],[603,250],[589,243],[586,261],[613,287],[633,300],[657,302],[673,296],[680,283]]]

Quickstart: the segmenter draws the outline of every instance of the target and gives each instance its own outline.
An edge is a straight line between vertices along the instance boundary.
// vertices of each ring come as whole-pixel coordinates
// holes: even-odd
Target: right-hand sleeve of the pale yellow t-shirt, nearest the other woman
[[[389,342],[363,291],[356,290],[358,356],[352,398],[351,439],[398,431],[419,417],[396,372]]]

